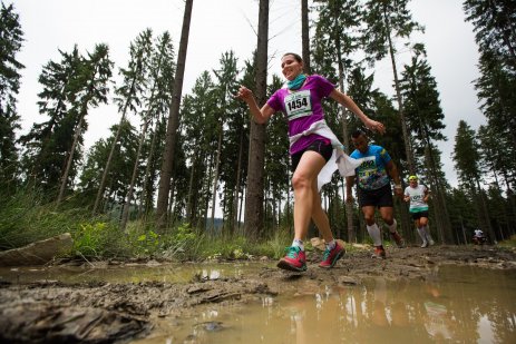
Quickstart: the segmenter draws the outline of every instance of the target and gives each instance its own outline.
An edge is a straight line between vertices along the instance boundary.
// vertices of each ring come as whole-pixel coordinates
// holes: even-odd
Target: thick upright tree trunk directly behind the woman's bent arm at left
[[[259,35],[256,49],[256,102],[265,102],[267,77],[269,0],[260,0]],[[247,191],[245,195],[245,233],[259,237],[263,232],[263,176],[265,156],[265,125],[251,120],[247,164]]]

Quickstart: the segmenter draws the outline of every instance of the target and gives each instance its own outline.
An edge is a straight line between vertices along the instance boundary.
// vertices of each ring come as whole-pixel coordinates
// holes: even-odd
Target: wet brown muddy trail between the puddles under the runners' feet
[[[442,264],[516,271],[516,250],[495,246],[389,247],[387,259],[372,258],[370,248],[359,249],[347,253],[332,269],[318,267],[321,256],[318,250],[308,254],[305,273],[280,271],[275,262],[261,261],[252,274],[196,275],[186,283],[0,279],[0,343],[124,343],[145,337],[160,318],[191,316],[214,303],[234,306],[286,293],[310,294],[321,286],[360,285],[374,276],[426,281]],[[95,268],[107,266],[97,263]]]

